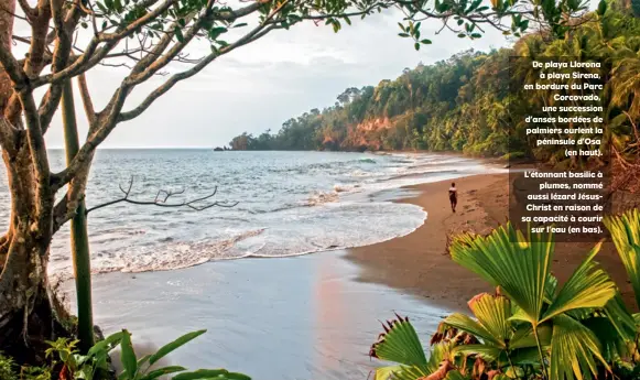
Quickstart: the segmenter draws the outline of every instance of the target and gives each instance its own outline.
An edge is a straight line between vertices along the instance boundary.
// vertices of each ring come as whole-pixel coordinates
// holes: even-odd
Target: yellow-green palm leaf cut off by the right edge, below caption
[[[640,307],[640,210],[636,208],[619,216],[607,217],[605,226],[611,234],[633,286],[636,303]]]

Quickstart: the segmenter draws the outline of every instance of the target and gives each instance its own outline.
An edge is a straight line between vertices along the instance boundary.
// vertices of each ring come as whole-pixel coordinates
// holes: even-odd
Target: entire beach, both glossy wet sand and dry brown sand
[[[400,194],[405,197],[397,202],[422,207],[426,221],[384,242],[301,257],[97,275],[95,321],[107,334],[130,329],[139,354],[207,328],[196,343],[172,354],[172,365],[225,367],[260,379],[366,379],[380,365],[368,357],[380,321],[394,312],[409,316],[426,344],[444,316],[466,312],[471,296],[492,291],[451,260],[446,242],[449,234],[486,234],[506,220],[509,175],[453,181],[459,192],[456,214],[447,198],[452,180],[403,188]],[[590,248],[556,243],[552,270],[561,282]],[[597,260],[632,304],[612,245],[606,243]],[[73,283],[66,285],[73,293]]]

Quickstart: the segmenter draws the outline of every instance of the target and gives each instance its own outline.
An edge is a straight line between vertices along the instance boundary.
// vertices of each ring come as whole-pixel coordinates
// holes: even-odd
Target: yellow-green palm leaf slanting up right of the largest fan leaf
[[[577,308],[604,307],[617,294],[616,284],[609,275],[593,262],[601,241],[589,252],[568,281],[557,293],[541,322]]]

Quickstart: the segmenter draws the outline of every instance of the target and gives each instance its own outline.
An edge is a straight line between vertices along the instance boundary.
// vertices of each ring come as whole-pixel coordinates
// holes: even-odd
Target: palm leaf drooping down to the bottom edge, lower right
[[[583,380],[597,374],[598,363],[609,370],[595,334],[566,315],[553,318],[550,380]]]

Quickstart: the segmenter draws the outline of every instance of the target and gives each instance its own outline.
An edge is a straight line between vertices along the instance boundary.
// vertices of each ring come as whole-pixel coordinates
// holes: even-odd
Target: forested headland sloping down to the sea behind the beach
[[[539,73],[524,65],[510,67],[509,59],[572,56],[601,63],[603,124],[610,138],[601,149],[610,148],[610,142],[629,153],[623,152],[626,143],[633,140],[632,124],[640,117],[640,22],[629,2],[610,3],[600,21],[588,17],[563,40],[531,33],[510,48],[469,50],[433,65],[405,68],[394,80],[347,88],[335,105],[286,120],[275,133],[242,133],[230,148],[511,153],[557,164],[567,160],[554,146],[535,148],[524,135],[524,116],[541,115],[541,106],[553,105],[552,93],[557,91],[532,96],[513,90],[534,83]]]

